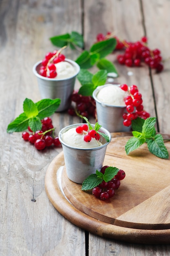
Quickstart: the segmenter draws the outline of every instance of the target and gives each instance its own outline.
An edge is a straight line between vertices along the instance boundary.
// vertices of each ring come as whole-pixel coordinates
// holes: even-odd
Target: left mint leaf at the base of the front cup
[[[90,190],[98,186],[103,181],[102,178],[97,177],[96,174],[89,175],[82,184],[82,190]]]

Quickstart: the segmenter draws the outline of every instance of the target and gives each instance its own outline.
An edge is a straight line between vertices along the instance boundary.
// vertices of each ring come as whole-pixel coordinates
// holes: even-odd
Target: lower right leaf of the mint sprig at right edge
[[[152,153],[153,155],[156,155],[157,157],[160,157],[163,159],[169,158],[168,150],[164,145],[163,137],[161,134],[155,135],[154,140],[150,139],[148,141],[148,149],[150,153]]]

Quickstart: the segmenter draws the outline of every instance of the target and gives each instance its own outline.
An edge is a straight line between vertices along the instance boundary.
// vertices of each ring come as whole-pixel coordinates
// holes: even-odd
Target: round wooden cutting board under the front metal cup
[[[126,173],[113,198],[99,200],[70,181],[63,152],[47,169],[46,193],[65,218],[93,234],[133,243],[170,243],[170,159],[152,155],[147,144],[126,155],[128,135],[113,133],[106,150],[104,165]],[[170,153],[170,142],[165,145]]]

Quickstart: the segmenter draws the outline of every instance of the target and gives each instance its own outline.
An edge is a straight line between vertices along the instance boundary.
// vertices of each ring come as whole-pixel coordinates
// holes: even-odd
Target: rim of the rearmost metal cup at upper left
[[[75,62],[75,61],[72,61],[68,58],[65,58],[65,61],[67,61],[68,63],[72,64],[73,67],[76,68],[76,73],[73,75],[73,76],[69,76],[68,78],[61,78],[61,79],[57,79],[57,78],[48,78],[48,77],[45,77],[45,76],[41,76],[40,74],[38,74],[37,72],[37,67],[38,65],[40,65],[40,63],[42,63],[42,61],[38,61],[34,64],[33,66],[33,73],[40,79],[44,79],[44,80],[47,80],[47,81],[65,81],[65,80],[68,80],[68,79],[71,79],[73,78],[74,76],[77,76],[77,74],[80,72],[80,66]]]

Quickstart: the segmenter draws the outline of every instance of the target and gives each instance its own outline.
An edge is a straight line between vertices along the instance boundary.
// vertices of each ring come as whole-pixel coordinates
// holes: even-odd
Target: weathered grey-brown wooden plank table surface
[[[119,38],[129,41],[146,35],[150,48],[161,49],[166,62],[160,74],[145,65],[121,66],[116,62],[116,54],[108,58],[119,72],[115,81],[136,84],[145,109],[157,117],[157,131],[170,134],[169,11],[168,0],[0,1],[1,256],[170,255],[170,245],[105,239],[66,220],[49,201],[44,184],[47,168],[62,148],[40,152],[22,139],[21,132],[6,131],[8,124],[22,112],[25,98],[40,100],[32,67],[46,52],[56,49],[50,37],[78,31],[84,36],[85,48],[89,49],[98,33],[115,31]],[[73,60],[79,55],[69,48],[65,54]],[[94,67],[92,72],[95,71]],[[133,75],[128,76],[128,71]],[[68,124],[80,122],[67,112],[55,113],[52,120],[56,133]]]

